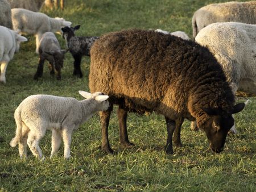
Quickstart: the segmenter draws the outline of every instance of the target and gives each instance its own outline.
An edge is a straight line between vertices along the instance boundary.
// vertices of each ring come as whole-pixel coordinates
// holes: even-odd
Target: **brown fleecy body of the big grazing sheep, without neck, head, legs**
[[[185,110],[189,93],[205,74],[225,81],[208,49],[173,35],[129,30],[104,35],[94,43],[89,87],[152,110],[159,105]]]

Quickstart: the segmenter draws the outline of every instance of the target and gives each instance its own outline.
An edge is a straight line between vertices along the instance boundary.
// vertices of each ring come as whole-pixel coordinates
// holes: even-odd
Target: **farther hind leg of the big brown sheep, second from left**
[[[130,143],[128,139],[128,134],[127,134],[127,126],[126,126],[127,111],[119,106],[117,115],[118,115],[118,122],[119,122],[119,142],[121,143],[121,145],[124,145],[125,147],[133,146],[134,144]]]

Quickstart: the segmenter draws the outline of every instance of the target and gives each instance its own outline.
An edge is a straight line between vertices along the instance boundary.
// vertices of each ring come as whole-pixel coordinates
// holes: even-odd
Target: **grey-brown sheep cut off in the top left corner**
[[[12,29],[11,6],[6,0],[0,0],[0,26]]]

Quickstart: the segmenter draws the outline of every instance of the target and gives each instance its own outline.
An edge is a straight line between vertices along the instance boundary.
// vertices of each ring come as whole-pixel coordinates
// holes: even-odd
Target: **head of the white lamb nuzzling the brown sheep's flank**
[[[97,111],[106,111],[109,108],[109,98],[108,95],[105,95],[101,92],[88,93],[86,91],[79,91],[79,94],[86,99],[94,99],[97,103]]]

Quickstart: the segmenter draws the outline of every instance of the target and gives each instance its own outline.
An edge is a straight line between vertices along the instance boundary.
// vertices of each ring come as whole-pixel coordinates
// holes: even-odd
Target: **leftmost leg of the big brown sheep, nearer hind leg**
[[[110,114],[113,110],[113,105],[110,105],[109,110],[101,111],[101,149],[106,153],[113,153],[113,150],[109,145],[109,136],[108,136],[108,127],[109,127],[109,119]]]

